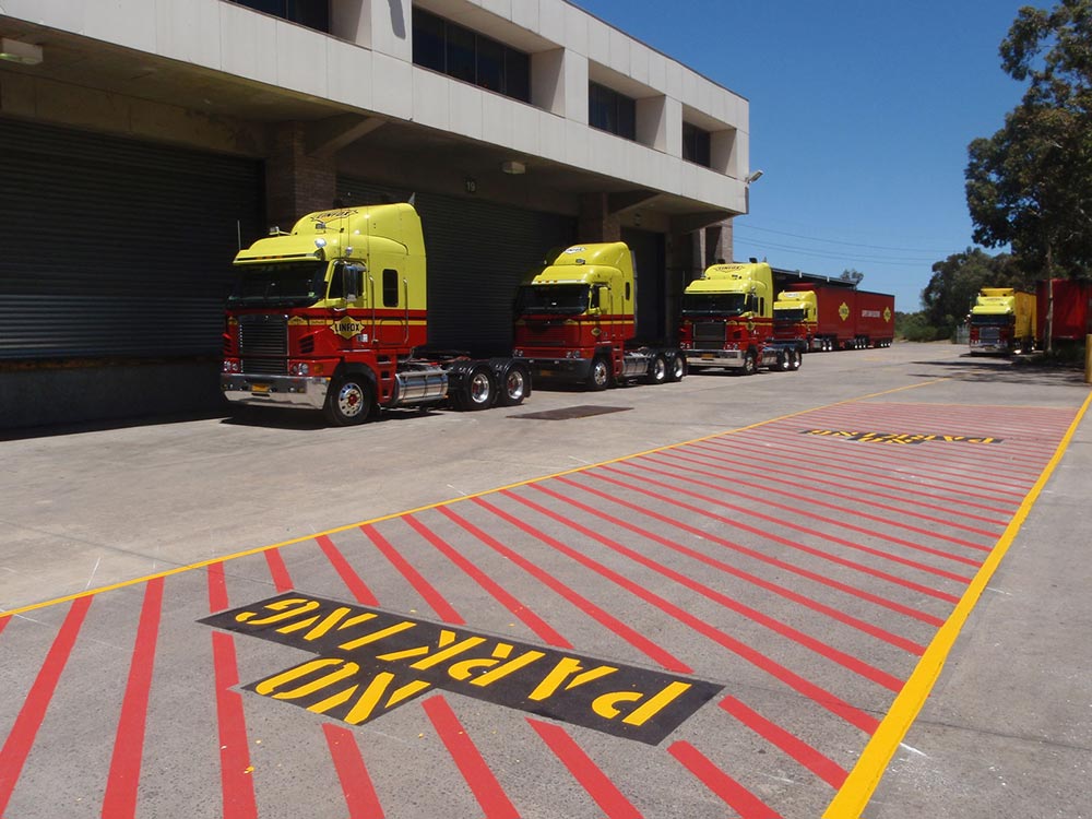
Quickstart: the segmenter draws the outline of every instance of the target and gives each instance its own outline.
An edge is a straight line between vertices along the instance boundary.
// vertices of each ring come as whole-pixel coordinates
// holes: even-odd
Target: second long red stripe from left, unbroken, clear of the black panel
[[[163,612],[163,578],[153,578],[144,586],[129,664],[129,681],[114,739],[114,757],[103,798],[103,819],[122,819],[136,815],[136,788],[140,785],[141,761],[144,756],[144,731],[147,724],[147,702],[152,691],[155,646],[159,638]]]

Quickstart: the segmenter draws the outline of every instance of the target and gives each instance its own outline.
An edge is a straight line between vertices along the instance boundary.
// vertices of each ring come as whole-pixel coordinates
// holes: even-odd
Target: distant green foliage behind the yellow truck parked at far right
[[[945,336],[962,324],[983,287],[1034,289],[1034,283],[1013,257],[989,256],[981,248],[952,253],[933,265],[933,276],[922,290],[925,320]]]

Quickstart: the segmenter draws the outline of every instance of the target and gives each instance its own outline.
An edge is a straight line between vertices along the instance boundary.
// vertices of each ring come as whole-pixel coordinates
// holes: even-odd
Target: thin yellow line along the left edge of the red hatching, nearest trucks
[[[562,477],[565,475],[572,475],[572,474],[578,473],[578,472],[584,472],[585,470],[593,470],[596,466],[607,466],[607,465],[614,464],[614,463],[621,463],[624,461],[629,461],[629,460],[634,459],[634,458],[641,458],[642,455],[651,455],[651,454],[654,454],[656,452],[665,452],[665,451],[670,450],[670,449],[678,449],[680,447],[687,447],[687,446],[689,446],[691,443],[700,443],[701,441],[709,441],[709,440],[712,440],[713,438],[723,438],[724,436],[735,435],[737,432],[743,432],[743,431],[746,431],[748,429],[757,429],[758,427],[763,427],[763,426],[767,426],[768,424],[775,424],[779,420],[785,420],[786,418],[794,418],[794,417],[796,417],[798,415],[805,415],[807,413],[818,412],[819,410],[827,410],[829,407],[840,406],[842,404],[852,404],[852,403],[854,403],[856,401],[864,401],[866,399],[874,399],[874,397],[877,397],[879,395],[889,395],[889,394],[895,393],[895,392],[903,392],[904,390],[914,390],[914,389],[917,389],[918,387],[928,387],[929,384],[939,383],[940,381],[946,381],[946,380],[948,380],[948,379],[946,379],[946,378],[937,378],[937,379],[933,379],[931,381],[922,381],[922,382],[918,382],[916,384],[906,384],[904,387],[897,387],[897,388],[894,388],[892,390],[885,390],[883,392],[874,392],[874,393],[869,393],[867,395],[860,395],[860,396],[854,397],[854,399],[846,399],[844,401],[835,401],[834,403],[832,403],[832,404],[826,404],[824,406],[816,406],[816,407],[811,407],[810,410],[800,410],[799,412],[788,413],[787,415],[781,415],[781,416],[779,416],[776,418],[768,418],[767,420],[760,420],[757,424],[750,424],[750,425],[748,425],[746,427],[737,427],[736,429],[729,429],[729,430],[726,430],[726,431],[723,431],[723,432],[714,432],[712,435],[702,436],[701,438],[695,438],[695,439],[689,440],[689,441],[682,441],[681,443],[669,443],[669,444],[667,444],[665,447],[657,447],[655,449],[645,450],[644,452],[638,452],[636,454],[622,455],[621,458],[615,458],[615,459],[612,459],[609,461],[601,461],[600,463],[584,464],[583,466],[577,466],[577,467],[571,468],[571,470],[565,470],[563,472],[556,472],[556,473],[554,473],[551,475],[542,475],[539,477],[529,478],[527,480],[520,480],[518,483],[509,484],[507,486],[500,486],[500,487],[496,487],[494,489],[486,489],[484,491],[474,492],[472,495],[463,495],[463,496],[461,496],[459,498],[449,498],[448,500],[441,500],[441,501],[438,501],[436,503],[429,503],[429,505],[424,506],[424,507],[417,507],[416,509],[410,509],[410,510],[405,510],[405,511],[401,511],[401,512],[394,512],[392,514],[384,514],[384,515],[382,515],[380,518],[372,518],[371,520],[359,521],[358,523],[348,523],[348,524],[346,524],[344,526],[337,526],[336,529],[328,529],[324,532],[317,532],[317,533],[311,534],[311,535],[304,535],[302,537],[294,537],[290,541],[282,541],[281,543],[274,543],[274,544],[271,544],[269,546],[257,546],[257,547],[254,547],[252,549],[246,549],[245,551],[235,551],[235,553],[233,553],[230,555],[225,555],[224,557],[214,557],[214,558],[211,558],[209,560],[201,560],[201,561],[195,562],[195,563],[187,563],[186,566],[178,566],[178,567],[176,567],[174,569],[166,569],[164,571],[155,572],[154,574],[145,574],[145,575],[140,577],[140,578],[134,578],[132,580],[123,580],[120,583],[112,583],[110,585],[104,585],[104,586],[99,586],[97,589],[88,589],[87,591],[84,591],[84,592],[78,592],[76,594],[69,594],[69,595],[66,595],[63,597],[56,597],[54,600],[45,601],[43,603],[33,603],[33,604],[31,604],[28,606],[22,606],[20,608],[12,608],[12,609],[7,610],[7,612],[0,612],[0,617],[5,617],[5,616],[9,616],[9,615],[20,615],[20,614],[24,614],[26,612],[33,612],[36,608],[46,608],[47,606],[55,606],[55,605],[57,605],[59,603],[68,603],[69,601],[79,600],[80,597],[88,597],[88,596],[94,595],[94,594],[102,594],[103,592],[112,592],[112,591],[115,591],[117,589],[126,589],[126,587],[131,586],[131,585],[138,585],[140,583],[146,583],[147,581],[155,580],[157,578],[169,578],[171,574],[180,574],[181,572],[193,571],[194,569],[203,569],[204,567],[206,567],[206,566],[213,566],[214,563],[222,563],[222,562],[226,562],[228,560],[237,560],[240,557],[250,557],[252,555],[261,555],[262,553],[270,551],[271,549],[280,549],[280,548],[282,548],[284,546],[292,546],[293,544],[305,543],[307,541],[313,541],[316,537],[334,535],[334,534],[337,534],[339,532],[347,532],[348,530],[352,530],[352,529],[359,529],[360,526],[368,526],[368,525],[371,525],[371,524],[375,524],[375,523],[381,523],[383,521],[393,520],[395,518],[402,518],[402,517],[407,515],[407,514],[416,514],[417,512],[425,512],[425,511],[427,511],[429,509],[437,509],[439,507],[446,507],[446,506],[449,506],[451,503],[456,503],[456,502],[462,501],[462,500],[471,500],[472,498],[480,498],[480,497],[484,497],[486,495],[495,495],[497,492],[502,492],[502,491],[506,491],[508,489],[515,489],[515,488],[521,487],[521,486],[527,486],[530,484],[536,484],[536,483],[539,483],[542,480],[549,480],[550,478],[555,478],[555,477]]]

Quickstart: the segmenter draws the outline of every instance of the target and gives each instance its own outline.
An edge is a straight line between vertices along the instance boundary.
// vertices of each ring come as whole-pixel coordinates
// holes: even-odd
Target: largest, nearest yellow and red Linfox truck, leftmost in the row
[[[517,405],[531,373],[511,358],[430,354],[425,241],[411,204],[316,212],[235,258],[221,387],[236,405],[324,411]]]

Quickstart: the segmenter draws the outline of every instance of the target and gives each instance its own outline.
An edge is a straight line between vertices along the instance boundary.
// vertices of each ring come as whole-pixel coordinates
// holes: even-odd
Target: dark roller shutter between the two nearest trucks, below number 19
[[[337,189],[346,205],[404,202],[411,193],[352,177]],[[414,202],[428,258],[429,345],[507,355],[517,285],[550,248],[572,244],[577,221],[438,193]]]

